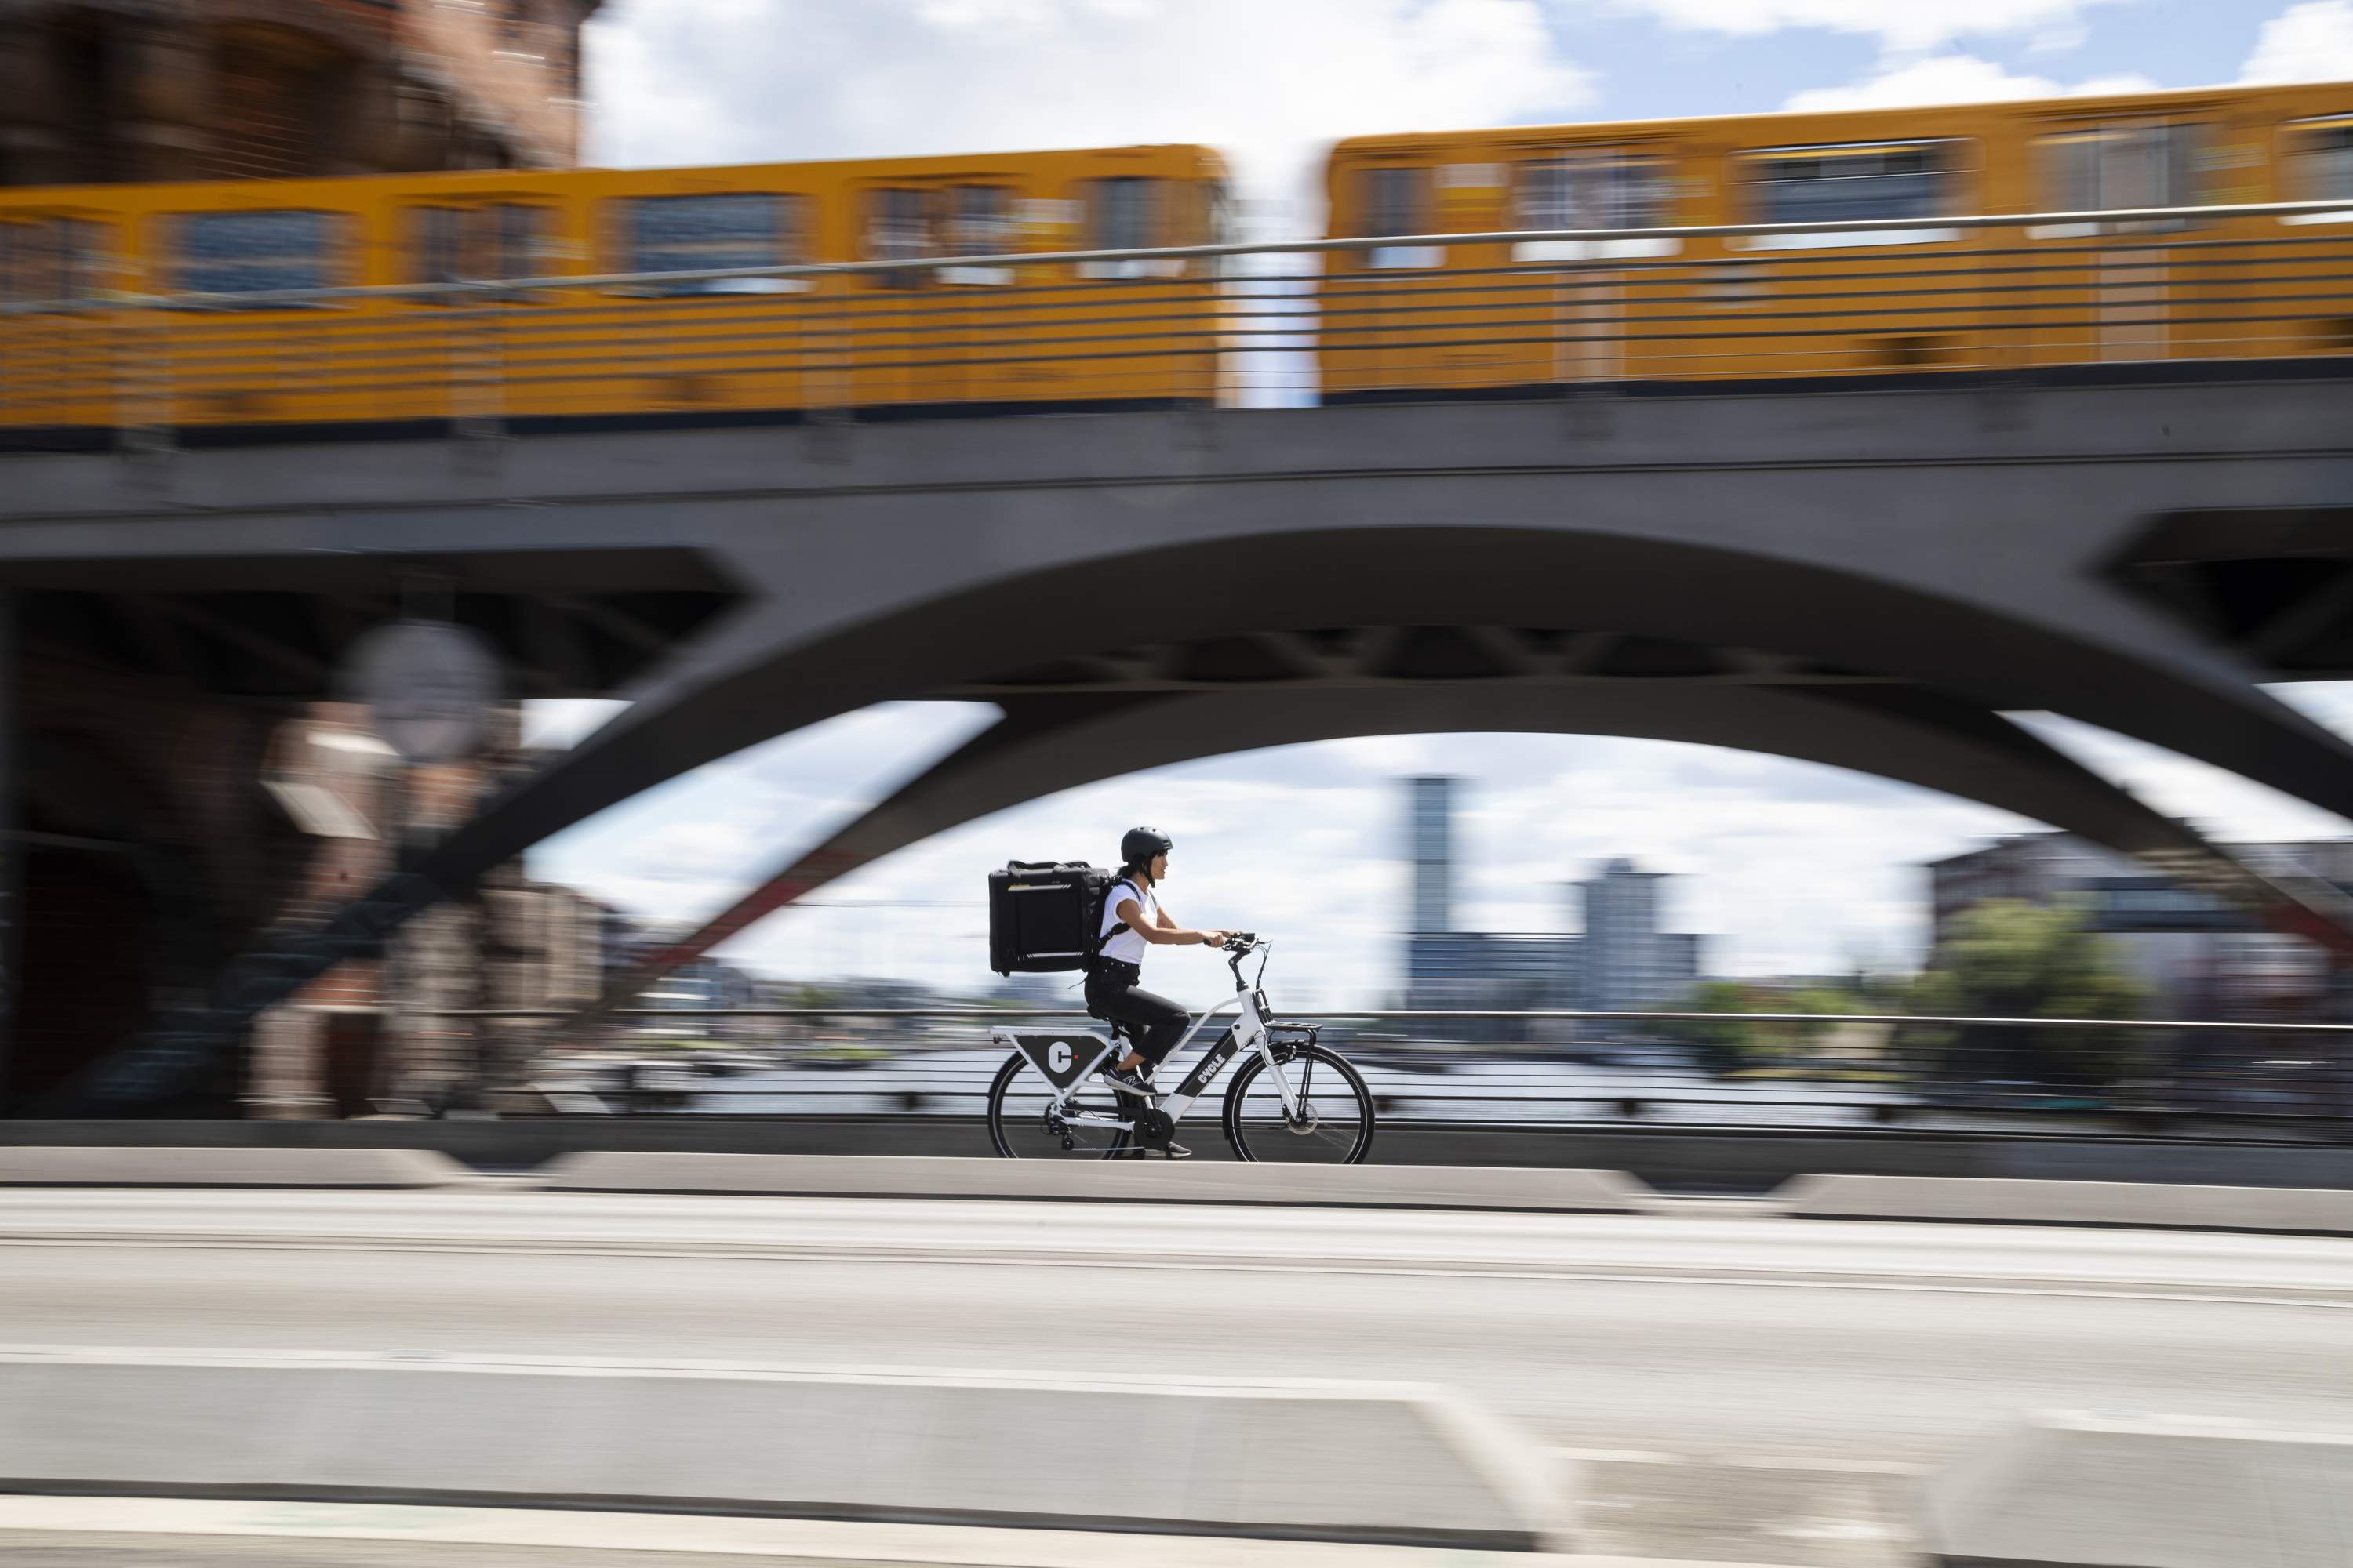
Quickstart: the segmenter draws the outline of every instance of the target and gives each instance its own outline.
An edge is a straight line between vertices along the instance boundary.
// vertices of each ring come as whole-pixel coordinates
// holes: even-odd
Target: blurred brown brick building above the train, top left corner
[[[579,162],[600,0],[0,0],[0,183]]]

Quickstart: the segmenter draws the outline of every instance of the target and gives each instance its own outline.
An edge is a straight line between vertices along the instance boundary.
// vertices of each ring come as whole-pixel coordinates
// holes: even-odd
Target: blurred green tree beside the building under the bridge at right
[[[2139,1018],[2148,992],[2073,903],[1988,898],[1953,919],[1908,1004],[1946,1018]],[[2132,1032],[1960,1025],[1915,1044],[1937,1077],[2104,1088],[2122,1077]]]

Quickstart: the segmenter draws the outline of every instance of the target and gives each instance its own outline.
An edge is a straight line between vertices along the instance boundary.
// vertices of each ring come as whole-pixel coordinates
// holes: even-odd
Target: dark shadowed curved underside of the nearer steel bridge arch
[[[1334,555],[1372,552],[1369,567]],[[821,581],[821,578],[819,578]],[[812,592],[812,590],[802,590]],[[1741,646],[1913,682],[1981,712],[2054,710],[2207,759],[2353,816],[2353,748],[2186,639],[2141,658],[2045,616],[1765,550],[1579,529],[1301,529],[1096,548],[812,628],[753,604],[711,646],[419,863],[449,891],[656,783],[819,719],[958,693],[1136,642],[1268,628],[1520,625]],[[2165,628],[2169,630],[2169,628]]]

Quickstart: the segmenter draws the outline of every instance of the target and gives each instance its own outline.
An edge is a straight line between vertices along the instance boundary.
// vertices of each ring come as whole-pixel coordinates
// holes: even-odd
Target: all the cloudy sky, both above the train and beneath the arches
[[[614,0],[591,28],[591,158],[607,165],[1207,141],[1261,233],[1308,233],[1315,160],[1379,129],[1762,113],[2219,80],[2353,80],[2353,0]],[[2353,731],[2353,693],[2282,689]],[[609,708],[539,705],[544,738]],[[661,919],[722,907],[974,729],[892,705],[755,748],[534,851],[539,877]],[[2212,769],[2066,722],[2092,766],[2221,837],[2348,825]],[[1713,748],[1438,736],[1282,748],[1075,790],[894,856],[744,936],[781,976],[988,980],[984,872],[1108,858],[1148,820],[1179,837],[1169,907],[1285,938],[1292,1001],[1367,1001],[1405,907],[1398,776],[1461,773],[1473,929],[1574,929],[1562,882],[1631,853],[1680,872],[1675,926],[1718,973],[1911,964],[1920,863],[2019,818]],[[1155,954],[1179,997],[1221,976]]]

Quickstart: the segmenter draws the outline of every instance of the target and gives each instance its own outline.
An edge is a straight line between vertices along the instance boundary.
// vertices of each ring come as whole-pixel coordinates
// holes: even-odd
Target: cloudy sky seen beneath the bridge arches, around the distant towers
[[[2273,691],[2353,733],[2353,682]],[[534,703],[529,733],[569,745],[616,708]],[[984,705],[894,703],[769,741],[551,839],[532,853],[532,875],[647,919],[701,919],[986,722]],[[2346,832],[2325,811],[2172,752],[2047,715],[2021,722],[2217,837]],[[1153,769],[1002,811],[859,870],[819,896],[826,907],[762,922],[720,957],[776,978],[873,973],[974,990],[988,978],[981,879],[993,865],[1101,863],[1125,827],[1155,820],[1179,839],[1167,893],[1181,919],[1275,936],[1278,973],[1301,1001],[1369,1004],[1395,983],[1407,924],[1395,780],[1447,769],[1478,780],[1457,825],[1457,919],[1468,929],[1560,929],[1551,891],[1518,870],[1529,842],[1553,865],[1626,853],[1685,877],[1666,924],[1708,931],[1708,971],[1727,978],[1913,969],[1929,936],[1925,867],[2042,827],[1840,769],[1685,743],[1337,741]],[[1169,994],[1226,985],[1207,952],[1172,947],[1153,964]]]

